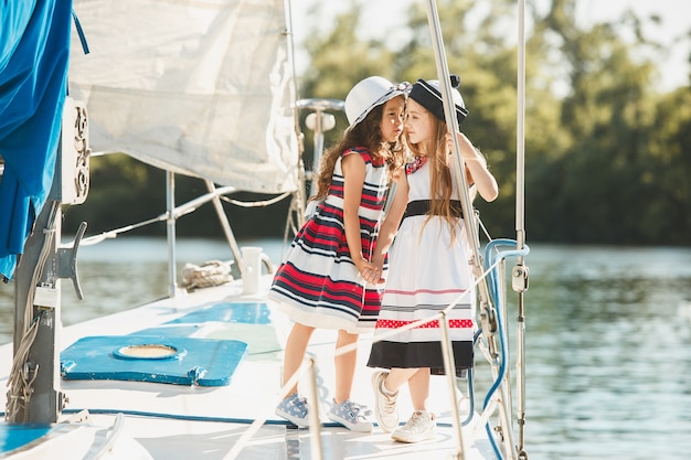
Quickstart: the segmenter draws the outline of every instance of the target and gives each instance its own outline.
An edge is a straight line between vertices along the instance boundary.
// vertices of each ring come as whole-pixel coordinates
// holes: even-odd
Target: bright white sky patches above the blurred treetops
[[[312,4],[323,0],[293,0],[293,22],[296,39],[296,64],[298,69],[307,65],[307,56],[299,52],[300,43],[305,40],[305,34],[312,29],[312,24],[307,22],[307,12]],[[363,4],[363,33],[373,38],[384,38],[384,34],[395,30],[396,25],[405,23],[405,14],[395,14],[396,10],[405,11],[412,1],[422,0],[355,0]],[[545,0],[541,0],[545,1]],[[329,1],[329,12],[320,23],[325,28],[330,26],[333,18],[340,11],[348,8],[350,3],[346,1]],[[425,4],[425,3],[423,3]],[[322,8],[323,9],[323,8]],[[578,0],[577,20],[582,24],[587,22],[616,20],[628,9],[634,10],[640,18],[644,15],[659,14],[662,19],[661,25],[649,25],[644,30],[652,40],[658,40],[666,44],[669,55],[660,56],[662,64],[662,89],[689,83],[690,66],[688,63],[691,49],[689,45],[681,46],[674,41],[680,41],[691,30],[691,1],[689,0]],[[327,25],[328,24],[328,25]],[[515,34],[515,30],[509,33]],[[395,43],[394,36],[386,36]],[[688,42],[688,40],[687,40]]]

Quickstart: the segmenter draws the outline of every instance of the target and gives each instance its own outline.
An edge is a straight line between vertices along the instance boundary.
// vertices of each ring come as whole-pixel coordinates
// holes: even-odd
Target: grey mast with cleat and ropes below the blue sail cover
[[[62,205],[81,204],[88,194],[88,127],[86,108],[65,100],[53,185],[17,267],[14,286],[13,362],[6,418],[17,422],[57,421],[64,407],[60,381],[62,328],[61,278],[77,277],[77,249],[86,224],[72,245],[61,247]]]

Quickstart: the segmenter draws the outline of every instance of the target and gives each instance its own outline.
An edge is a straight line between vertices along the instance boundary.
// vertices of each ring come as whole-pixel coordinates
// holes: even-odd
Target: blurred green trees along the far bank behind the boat
[[[691,86],[662,93],[656,56],[665,52],[644,33],[658,17],[627,11],[613,22],[574,22],[576,0],[528,3],[524,204],[528,240],[690,245]],[[422,2],[421,2],[422,3]],[[539,8],[540,7],[540,8]],[[318,15],[323,3],[315,7]],[[470,115],[461,129],[487,156],[500,197],[476,202],[493,237],[515,233],[517,68],[512,0],[437,1],[448,68],[461,77]],[[310,66],[300,97],[344,99],[360,79],[437,78],[426,10],[405,14],[406,40],[395,49],[362,33],[352,1],[331,30],[315,24],[305,46]],[[690,28],[691,32],[691,28]],[[685,40],[691,40],[688,35]],[[304,118],[307,114],[300,114]],[[343,114],[326,135],[333,143]],[[311,161],[311,133],[305,161]],[[199,179],[177,176],[179,203],[203,192]],[[151,218],[164,210],[164,175],[124,156],[92,160],[87,203],[66,212],[65,228],[89,222],[88,234]],[[265,200],[245,194],[243,200]],[[523,199],[523,197],[522,197]],[[263,210],[225,205],[238,237],[283,236],[287,200]],[[155,214],[151,214],[152,210]],[[164,222],[142,232],[163,234]],[[210,204],[182,217],[179,235],[222,235]]]

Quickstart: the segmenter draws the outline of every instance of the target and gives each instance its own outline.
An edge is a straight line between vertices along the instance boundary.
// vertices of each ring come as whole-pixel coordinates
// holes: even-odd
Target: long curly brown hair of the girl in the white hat
[[[370,151],[374,161],[385,161],[389,165],[390,178],[394,178],[401,172],[404,161],[405,143],[402,138],[395,142],[387,142],[382,138],[380,124],[384,113],[384,105],[385,104],[380,104],[374,107],[362,121],[346,131],[343,139],[329,148],[321,157],[321,168],[317,179],[317,194],[311,197],[312,200],[323,200],[327,197],[333,176],[333,169],[336,168],[336,161],[341,153],[353,147],[364,147]]]

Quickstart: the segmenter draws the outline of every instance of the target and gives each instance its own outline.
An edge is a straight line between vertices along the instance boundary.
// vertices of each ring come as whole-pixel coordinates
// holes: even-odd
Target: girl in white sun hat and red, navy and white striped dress
[[[389,181],[403,165],[403,89],[373,76],[350,90],[350,126],[322,158],[313,197],[317,211],[274,276],[268,297],[294,321],[285,347],[284,385],[300,368],[316,328],[338,330],[337,349],[374,330],[382,288],[371,282],[382,277],[384,265],[371,258]],[[336,395],[328,416],[351,430],[371,431],[364,407],[350,399],[355,361],[357,351],[334,357]],[[276,414],[297,426],[309,425],[309,406],[298,385],[287,395]]]

